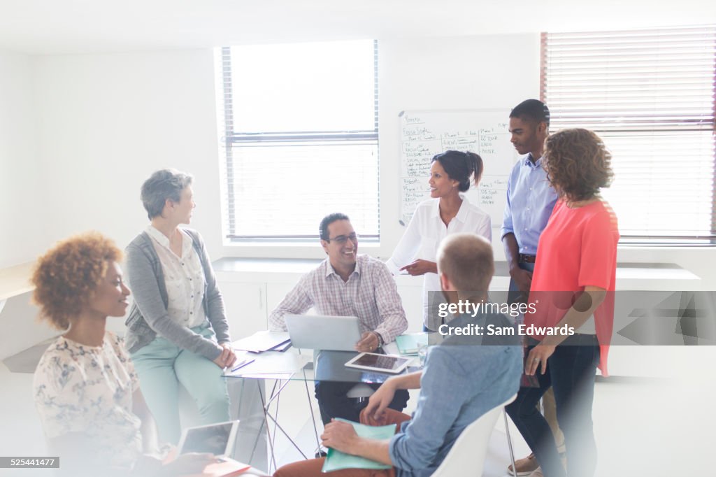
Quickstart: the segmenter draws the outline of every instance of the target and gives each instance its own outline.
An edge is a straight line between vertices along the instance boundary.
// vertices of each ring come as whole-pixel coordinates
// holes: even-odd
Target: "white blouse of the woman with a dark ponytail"
[[[443,238],[453,233],[473,232],[492,241],[492,221],[488,213],[473,205],[465,196],[460,196],[458,215],[445,226],[440,218],[440,199],[430,198],[415,208],[412,219],[398,242],[386,265],[394,275],[400,274],[400,268],[417,259],[437,261],[437,246]],[[440,295],[440,279],[437,274],[427,273],[422,285],[422,322],[428,328],[437,330],[441,319],[437,316],[437,300]],[[478,290],[475,290],[478,291]],[[432,292],[432,293],[431,293]],[[435,293],[438,292],[438,293]],[[430,299],[432,296],[433,299]],[[430,304],[435,302],[435,304]]]

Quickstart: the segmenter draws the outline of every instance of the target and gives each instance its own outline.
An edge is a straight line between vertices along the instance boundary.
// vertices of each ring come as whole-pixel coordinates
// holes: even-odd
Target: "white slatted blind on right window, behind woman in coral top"
[[[594,130],[624,241],[715,238],[716,27],[543,33],[551,132]]]

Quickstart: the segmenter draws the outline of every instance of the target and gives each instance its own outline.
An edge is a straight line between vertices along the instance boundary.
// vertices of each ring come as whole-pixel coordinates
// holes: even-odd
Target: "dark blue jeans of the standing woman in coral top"
[[[529,340],[528,351],[537,344]],[[521,387],[507,412],[535,454],[546,477],[565,476],[552,431],[536,409],[551,386],[557,406],[557,420],[564,433],[569,477],[591,477],[596,469],[596,443],[591,407],[594,402],[594,375],[599,363],[599,343],[591,334],[574,334],[556,347],[547,360],[545,374],[536,377],[539,387]]]

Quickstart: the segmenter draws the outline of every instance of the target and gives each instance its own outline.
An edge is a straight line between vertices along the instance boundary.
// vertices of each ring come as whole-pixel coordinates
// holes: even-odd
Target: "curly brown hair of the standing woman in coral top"
[[[565,129],[549,136],[544,157],[547,179],[569,201],[593,198],[614,177],[611,154],[599,136],[586,129]]]

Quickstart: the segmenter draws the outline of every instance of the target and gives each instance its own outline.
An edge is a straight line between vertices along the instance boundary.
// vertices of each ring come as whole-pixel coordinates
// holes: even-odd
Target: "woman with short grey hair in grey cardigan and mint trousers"
[[[126,346],[163,440],[177,443],[178,384],[204,424],[229,419],[223,369],[236,361],[211,261],[188,224],[196,204],[192,176],[158,170],[142,185],[150,225],[127,246],[135,302]]]

